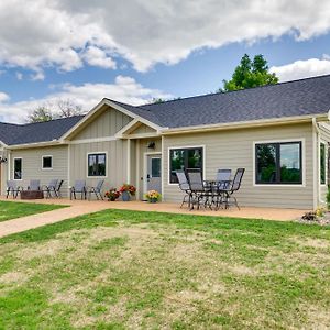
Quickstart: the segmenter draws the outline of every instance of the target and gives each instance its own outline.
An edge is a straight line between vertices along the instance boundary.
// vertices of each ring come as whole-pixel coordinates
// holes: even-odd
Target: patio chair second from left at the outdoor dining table
[[[209,200],[209,198],[212,196],[211,189],[210,186],[205,184],[201,170],[188,168],[186,173],[191,191],[190,209],[194,209],[194,205],[197,205],[197,209],[199,209],[201,201],[204,201],[205,207],[207,205],[211,206]]]

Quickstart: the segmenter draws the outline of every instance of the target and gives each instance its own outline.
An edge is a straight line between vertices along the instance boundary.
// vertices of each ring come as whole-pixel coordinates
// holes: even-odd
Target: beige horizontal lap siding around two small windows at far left
[[[53,169],[42,169],[42,156],[53,156]],[[13,178],[13,158],[23,158],[22,180],[16,180],[18,185],[28,188],[31,179],[40,179],[42,185],[47,185],[52,179],[63,179],[62,195],[67,196],[67,168],[68,168],[68,147],[50,146],[40,148],[15,150],[11,152],[11,170]]]

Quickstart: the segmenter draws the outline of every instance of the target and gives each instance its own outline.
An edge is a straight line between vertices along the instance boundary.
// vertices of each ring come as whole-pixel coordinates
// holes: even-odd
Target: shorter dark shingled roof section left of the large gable
[[[0,122],[0,141],[8,145],[14,145],[57,140],[82,117],[84,116],[74,116],[29,124],[9,124]]]

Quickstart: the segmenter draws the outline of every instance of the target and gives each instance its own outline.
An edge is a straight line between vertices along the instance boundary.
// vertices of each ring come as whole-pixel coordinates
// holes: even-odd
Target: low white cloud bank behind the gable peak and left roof
[[[153,98],[172,98],[173,96],[156,89],[145,88],[133,78],[124,76],[118,76],[113,84],[84,84],[79,86],[65,84],[59,86],[58,91],[44,98],[14,103],[9,102],[7,94],[0,92],[0,121],[24,122],[28,113],[33,109],[43,105],[55,105],[59,99],[70,99],[87,112],[105,97],[124,103],[142,105]]]

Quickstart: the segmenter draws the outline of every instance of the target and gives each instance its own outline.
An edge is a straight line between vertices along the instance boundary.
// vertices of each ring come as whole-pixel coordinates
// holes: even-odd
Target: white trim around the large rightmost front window
[[[302,160],[301,160],[301,164],[302,164],[302,184],[256,184],[255,182],[255,145],[256,144],[263,144],[263,143],[286,143],[286,142],[301,142],[301,153],[302,153]],[[253,158],[252,158],[252,168],[253,168],[253,173],[252,173],[252,180],[253,180],[253,186],[254,187],[266,187],[266,188],[283,188],[283,187],[306,187],[306,143],[305,143],[305,138],[293,138],[293,139],[277,139],[277,140],[262,140],[262,141],[253,141],[253,145],[252,145],[252,154],[253,154]]]

